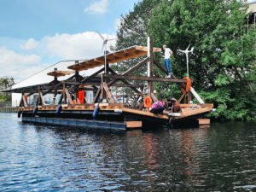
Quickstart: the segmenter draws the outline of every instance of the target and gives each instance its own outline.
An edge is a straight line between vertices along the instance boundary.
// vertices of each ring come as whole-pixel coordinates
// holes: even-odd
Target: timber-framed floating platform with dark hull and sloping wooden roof
[[[48,75],[54,80],[48,84],[36,84],[3,92],[21,93],[20,106],[17,108],[18,115],[22,114],[22,121],[29,123],[40,123],[47,125],[64,125],[80,128],[100,128],[113,130],[127,130],[132,128],[157,128],[160,125],[187,124],[191,122],[197,125],[209,125],[209,119],[204,119],[204,114],[212,111],[212,104],[180,104],[181,110],[175,113],[172,109],[161,114],[148,112],[143,105],[145,96],[149,96],[153,102],[157,101],[154,93],[154,82],[176,83],[186,89],[187,80],[172,78],[160,78],[155,76],[154,67],[159,67],[166,74],[167,70],[159,61],[154,59],[154,52],[160,52],[160,48],[153,47],[152,38],[148,38],[148,47],[132,46],[108,55],[88,60],[76,62],[67,67],[72,71],[58,71],[55,69]],[[147,56],[143,56],[147,55]],[[131,67],[125,73],[116,73],[110,64],[118,65],[119,61],[125,61],[143,56],[142,61]],[[106,60],[105,60],[106,59]],[[105,62],[107,61],[107,62]],[[132,75],[143,65],[148,64],[148,75]],[[79,74],[91,68],[98,67],[95,73],[83,77]],[[71,75],[66,80],[59,81],[58,77]],[[128,80],[130,80],[128,82]],[[131,82],[140,83],[131,83]],[[125,102],[119,102],[118,96],[113,95],[111,88],[130,88],[134,96],[136,105],[127,106]],[[79,94],[84,90],[93,90],[92,102],[87,102],[86,97],[82,100]],[[46,104],[44,96],[53,94],[53,101]],[[38,95],[37,102],[31,106],[27,102],[27,96]],[[179,99],[188,95],[191,100],[191,93],[185,92]],[[57,98],[57,96],[59,96]],[[95,115],[96,113],[96,115]]]

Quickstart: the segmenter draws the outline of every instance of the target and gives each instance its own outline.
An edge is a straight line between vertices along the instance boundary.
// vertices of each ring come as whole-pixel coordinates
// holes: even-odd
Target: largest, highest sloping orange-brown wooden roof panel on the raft
[[[154,52],[160,52],[160,48],[154,48]],[[148,47],[143,46],[132,46],[130,48],[122,49],[113,53],[110,53],[107,55],[107,62],[108,63],[114,63],[124,60],[129,60],[132,58],[136,58],[138,56],[147,55],[148,54]],[[80,62],[79,64],[75,64],[73,66],[67,67],[69,69],[75,70],[75,71],[82,71],[87,70],[94,67],[100,67],[103,66],[105,62],[105,56],[102,55],[100,57]]]

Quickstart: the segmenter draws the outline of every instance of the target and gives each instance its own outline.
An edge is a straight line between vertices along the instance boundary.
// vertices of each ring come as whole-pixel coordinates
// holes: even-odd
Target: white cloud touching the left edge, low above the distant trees
[[[13,77],[15,81],[36,73],[42,69],[38,65],[41,57],[38,55],[20,55],[13,50],[0,47],[0,76]]]

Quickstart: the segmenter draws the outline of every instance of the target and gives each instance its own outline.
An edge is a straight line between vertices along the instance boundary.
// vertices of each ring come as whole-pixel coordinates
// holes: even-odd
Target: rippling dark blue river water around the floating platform
[[[100,132],[0,113],[1,191],[256,191],[256,124]]]

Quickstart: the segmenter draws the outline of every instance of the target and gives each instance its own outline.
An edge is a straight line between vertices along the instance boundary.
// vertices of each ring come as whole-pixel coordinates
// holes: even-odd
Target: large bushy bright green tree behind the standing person
[[[161,0],[148,26],[154,46],[167,44],[174,52],[172,72],[186,76],[185,56],[177,49],[195,47],[189,58],[193,86],[212,102],[216,119],[253,120],[255,108],[255,31],[247,31],[247,5],[236,0]],[[177,95],[176,85],[169,86]]]

